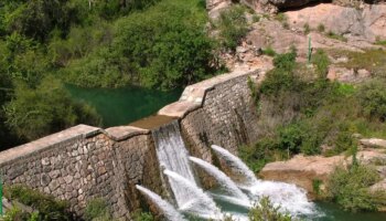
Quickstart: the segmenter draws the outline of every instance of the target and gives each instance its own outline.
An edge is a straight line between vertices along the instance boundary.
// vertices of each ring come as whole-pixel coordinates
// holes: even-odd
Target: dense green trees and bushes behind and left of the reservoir
[[[98,125],[95,110],[56,80],[169,90],[216,74],[206,22],[201,0],[1,1],[1,148]],[[53,88],[46,78],[56,78]]]

